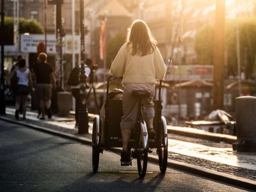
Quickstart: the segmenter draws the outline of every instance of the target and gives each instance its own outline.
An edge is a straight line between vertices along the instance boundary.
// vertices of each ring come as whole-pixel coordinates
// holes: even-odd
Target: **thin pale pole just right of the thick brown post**
[[[239,23],[236,18],[236,57],[237,57],[237,73],[238,73],[238,90],[241,96],[241,59],[240,59],[240,37],[239,37]]]

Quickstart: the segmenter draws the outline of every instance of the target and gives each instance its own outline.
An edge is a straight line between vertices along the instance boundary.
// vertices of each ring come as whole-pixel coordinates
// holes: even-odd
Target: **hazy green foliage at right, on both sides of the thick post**
[[[256,71],[256,17],[241,17],[238,20],[240,38],[241,71],[250,78]],[[195,38],[195,51],[198,64],[213,64],[214,23],[198,29]],[[227,74],[237,74],[236,20],[225,21],[225,55]]]

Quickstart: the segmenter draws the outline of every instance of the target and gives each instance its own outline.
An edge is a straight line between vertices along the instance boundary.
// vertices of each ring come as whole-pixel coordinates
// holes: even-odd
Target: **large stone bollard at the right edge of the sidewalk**
[[[236,143],[233,150],[256,152],[256,97],[236,98]]]

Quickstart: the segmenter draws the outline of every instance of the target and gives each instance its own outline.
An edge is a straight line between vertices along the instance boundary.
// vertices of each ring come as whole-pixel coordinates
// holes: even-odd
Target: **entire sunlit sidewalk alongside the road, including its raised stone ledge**
[[[15,109],[6,108],[6,116],[0,116],[0,119],[9,119],[9,121],[17,122],[14,118]],[[75,128],[74,116],[70,114],[67,118],[52,116],[50,120],[38,120],[37,112],[27,111],[26,120],[19,120],[19,123],[35,125],[53,131],[58,131],[64,134],[73,135],[77,138],[84,138],[87,142],[91,141],[92,134],[92,119],[90,114],[89,134],[78,135],[78,129]],[[190,165],[200,166],[207,170],[227,173],[246,179],[250,179],[256,185],[256,153],[238,153],[232,150],[230,143],[225,143],[221,140],[229,138],[230,141],[235,140],[235,136],[224,134],[213,134],[207,131],[197,130],[194,128],[179,128],[168,125],[169,132],[178,130],[189,134],[200,134],[200,138],[186,137],[179,134],[169,133],[169,160],[175,160],[182,163],[189,163]],[[179,132],[176,133],[179,133]],[[194,131],[194,132],[193,132]],[[218,137],[221,142],[211,140],[204,140],[207,135],[211,137]],[[217,140],[217,139],[216,139]],[[152,155],[157,154],[153,151]]]

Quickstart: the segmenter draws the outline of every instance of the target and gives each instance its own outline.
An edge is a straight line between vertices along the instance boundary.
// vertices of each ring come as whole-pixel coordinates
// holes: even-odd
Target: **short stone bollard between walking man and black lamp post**
[[[72,95],[70,92],[58,92],[57,105],[59,116],[69,116],[70,108],[72,105]]]

